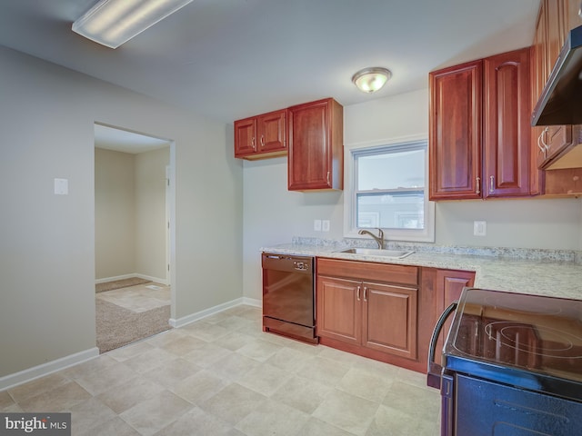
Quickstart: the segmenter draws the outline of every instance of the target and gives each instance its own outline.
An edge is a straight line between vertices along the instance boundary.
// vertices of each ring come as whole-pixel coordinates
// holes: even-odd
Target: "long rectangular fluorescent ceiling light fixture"
[[[100,0],[73,23],[73,31],[110,48],[129,41],[192,0]]]

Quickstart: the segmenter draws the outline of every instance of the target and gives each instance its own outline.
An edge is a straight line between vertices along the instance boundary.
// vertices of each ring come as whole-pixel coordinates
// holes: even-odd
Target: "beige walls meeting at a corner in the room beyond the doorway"
[[[95,279],[166,277],[169,145],[128,154],[95,148]]]

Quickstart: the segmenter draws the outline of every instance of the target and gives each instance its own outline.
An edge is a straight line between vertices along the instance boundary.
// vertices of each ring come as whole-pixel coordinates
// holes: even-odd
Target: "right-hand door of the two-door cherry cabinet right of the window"
[[[529,47],[484,60],[483,197],[530,193]]]

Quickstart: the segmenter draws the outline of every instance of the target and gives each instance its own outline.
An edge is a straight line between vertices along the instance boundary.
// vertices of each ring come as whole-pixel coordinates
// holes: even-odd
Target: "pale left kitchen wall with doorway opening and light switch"
[[[95,122],[175,141],[172,317],[242,295],[232,127],[5,47],[0,64],[0,379],[95,349]]]

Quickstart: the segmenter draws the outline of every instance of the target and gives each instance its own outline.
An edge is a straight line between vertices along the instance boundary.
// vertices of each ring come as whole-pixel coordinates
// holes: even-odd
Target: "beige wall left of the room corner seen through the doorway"
[[[95,279],[135,271],[135,156],[95,148]]]

